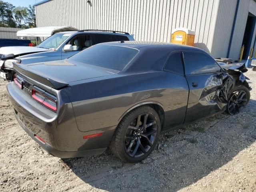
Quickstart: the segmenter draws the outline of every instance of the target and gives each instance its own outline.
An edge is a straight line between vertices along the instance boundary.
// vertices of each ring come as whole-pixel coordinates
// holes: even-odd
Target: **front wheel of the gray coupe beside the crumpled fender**
[[[246,86],[235,87],[228,96],[226,112],[230,115],[238,114],[250,100],[250,90]]]

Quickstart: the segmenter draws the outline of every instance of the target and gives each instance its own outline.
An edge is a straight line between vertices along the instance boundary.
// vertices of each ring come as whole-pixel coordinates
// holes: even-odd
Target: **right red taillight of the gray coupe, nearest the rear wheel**
[[[32,88],[32,98],[42,105],[46,106],[50,110],[57,111],[57,99],[54,95],[48,92],[40,92]]]

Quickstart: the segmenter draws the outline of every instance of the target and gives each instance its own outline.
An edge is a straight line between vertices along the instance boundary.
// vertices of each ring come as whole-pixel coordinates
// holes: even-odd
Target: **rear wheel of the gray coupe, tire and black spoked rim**
[[[140,106],[122,118],[109,148],[124,162],[140,162],[154,150],[160,130],[161,123],[157,112],[150,106]],[[152,134],[149,135],[150,133]]]

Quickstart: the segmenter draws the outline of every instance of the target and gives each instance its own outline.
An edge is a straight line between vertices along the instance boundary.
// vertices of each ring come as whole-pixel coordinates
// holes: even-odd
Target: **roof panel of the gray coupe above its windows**
[[[187,45],[181,45],[181,44],[174,44],[174,43],[166,43],[166,42],[152,42],[152,41],[116,41],[116,42],[106,42],[101,43],[104,45],[116,45],[116,46],[124,46],[124,47],[130,47],[130,48],[152,48],[152,46],[158,46],[158,48],[168,49],[170,51],[175,50],[184,50],[184,51],[198,51],[198,52],[204,52],[202,49]]]

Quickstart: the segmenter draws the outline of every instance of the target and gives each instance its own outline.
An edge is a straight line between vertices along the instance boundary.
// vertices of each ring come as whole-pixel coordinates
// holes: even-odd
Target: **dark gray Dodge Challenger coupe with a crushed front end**
[[[14,64],[8,94],[21,127],[59,158],[102,154],[139,162],[162,133],[250,100],[244,65],[203,50],[120,41],[66,60]]]

